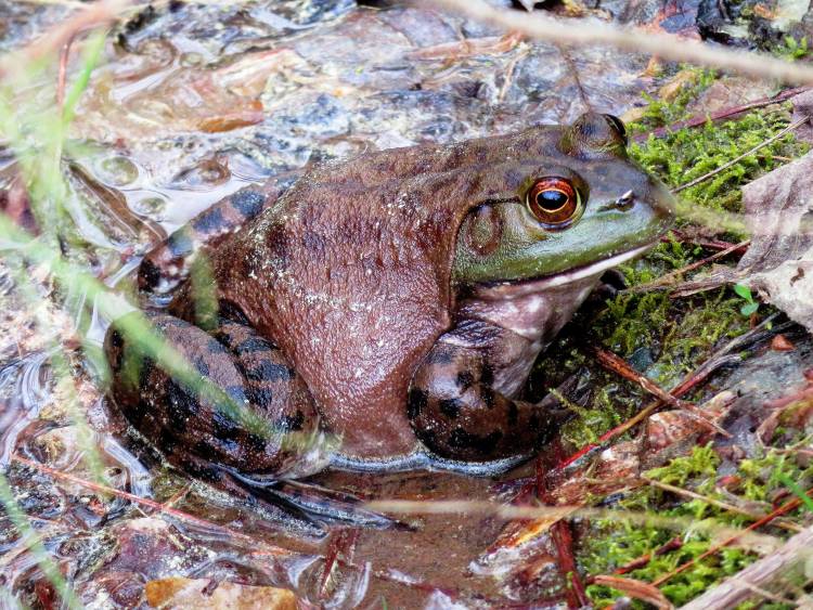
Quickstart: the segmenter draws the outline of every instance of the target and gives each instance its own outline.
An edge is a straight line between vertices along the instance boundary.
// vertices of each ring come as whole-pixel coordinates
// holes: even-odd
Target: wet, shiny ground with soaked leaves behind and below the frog
[[[585,109],[573,68],[601,112],[622,115],[658,86],[646,57],[564,54],[456,16],[380,4],[173,2],[119,24],[79,104],[63,166],[77,260],[125,289],[151,244],[248,183],[326,157],[568,121]],[[605,17],[655,21],[672,31],[695,27],[696,9],[601,8]],[[21,47],[69,13],[60,4],[4,3],[0,48]],[[10,189],[14,174],[13,159],[0,157],[0,187]],[[495,517],[417,516],[405,519],[411,530],[335,528],[317,537],[287,532],[261,508],[238,506],[162,466],[126,434],[85,351],[63,362],[75,382],[55,385],[48,333],[13,274],[2,271],[0,460],[82,603],[144,603],[145,583],[179,574],[286,586],[336,608],[560,602],[564,581],[550,541],[527,551],[519,574],[494,556],[477,562],[502,531]],[[37,280],[47,296],[48,282]],[[68,313],[42,307],[51,333],[60,340],[73,334]],[[81,323],[90,347],[99,347],[107,321]],[[86,459],[88,443],[100,450],[95,463]],[[527,465],[508,478],[532,471]],[[96,493],[86,482],[100,475],[163,506]],[[502,497],[489,479],[426,472],[338,472],[314,482],[365,498]],[[3,522],[0,583],[27,606],[51,607],[53,586],[29,542]]]

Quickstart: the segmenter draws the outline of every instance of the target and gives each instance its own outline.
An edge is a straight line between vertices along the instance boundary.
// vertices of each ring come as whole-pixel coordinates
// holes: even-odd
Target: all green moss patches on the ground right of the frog
[[[708,83],[706,73],[698,73],[694,85],[687,87],[674,102],[650,105],[644,119],[632,126],[632,131],[640,132],[656,125],[686,118],[692,114],[692,95],[696,96]],[[776,105],[751,112],[736,120],[708,124],[661,139],[649,138],[632,146],[632,156],[674,187],[741,155],[779,132],[788,122],[789,105]],[[786,159],[777,159],[776,156],[796,158],[806,151],[805,144],[797,143],[792,134],[789,134],[713,179],[684,191],[681,194],[684,203],[679,225],[689,224],[692,218],[696,222],[697,217],[693,212],[706,210],[708,213],[704,222],[709,228],[709,234],[718,234],[727,241],[741,238],[736,230],[721,231],[720,226],[726,224],[723,220],[718,222],[718,219],[741,219],[740,186],[786,163]],[[683,269],[709,254],[709,250],[698,246],[670,239],[656,246],[644,259],[621,268],[621,271],[628,284],[636,286]],[[682,280],[692,278],[694,273]],[[601,369],[591,359],[588,349],[581,350],[586,355],[575,358],[573,353],[580,352],[575,336],[582,337],[582,345],[601,346],[614,351],[648,378],[669,389],[706,361],[721,345],[749,329],[749,316],[740,312],[743,303],[741,296],[730,287],[682,299],[670,298],[667,290],[640,294],[624,291],[609,300],[601,312],[586,319],[579,317],[575,325],[577,330],[572,334],[565,333],[559,342],[549,350],[549,355],[540,361],[541,371],[557,372],[551,382],[580,371],[581,375],[589,376],[593,388],[585,406],[573,408],[578,416],[564,428],[564,439],[576,446],[594,442],[602,433],[640,411],[648,401],[635,385]],[[761,308],[757,315],[765,315],[765,309]],[[590,328],[586,336],[584,328]],[[558,351],[558,347],[563,351]],[[568,353],[569,356],[565,360],[557,359],[557,353]],[[584,367],[589,368],[589,373],[584,373]],[[704,397],[700,390],[695,398],[701,400]],[[787,445],[789,439],[785,432],[779,430],[775,436]],[[724,493],[718,488],[720,463],[720,457],[711,447],[699,446],[691,455],[653,469],[647,476],[714,501],[728,502],[731,496],[727,494],[734,493],[744,499],[765,503],[765,507],[770,507],[780,494],[785,494],[780,502],[792,497],[787,496],[786,485],[782,481],[784,477],[798,482],[805,490],[813,485],[813,469],[800,466],[788,454],[770,450],[763,455],[741,460],[734,479],[737,482]],[[632,579],[654,582],[679,564],[699,557],[717,542],[708,529],[686,529],[686,520],[710,524],[712,532],[715,527],[741,528],[753,521],[704,499],[687,499],[655,486],[629,492],[617,499],[616,505],[619,508],[657,514],[659,517],[673,517],[675,527],[649,527],[620,519],[594,522],[591,533],[583,536],[583,546],[578,555],[580,567],[586,574],[611,574],[616,568],[654,553],[676,534],[680,535],[683,543],[680,549],[653,557],[645,566],[625,574]],[[798,517],[803,510],[799,509],[790,517]],[[779,530],[769,531],[775,535],[786,533]],[[744,548],[724,548],[674,575],[660,589],[673,603],[681,605],[757,558],[756,554]],[[622,595],[596,585],[589,586],[588,593],[597,607]],[[645,607],[640,602],[634,602],[634,606]],[[776,605],[776,608],[780,607],[782,605]]]

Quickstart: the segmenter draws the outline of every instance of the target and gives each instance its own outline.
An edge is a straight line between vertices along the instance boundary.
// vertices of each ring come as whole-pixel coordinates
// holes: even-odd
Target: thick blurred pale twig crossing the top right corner
[[[541,12],[529,15],[519,11],[495,9],[483,0],[433,0],[433,3],[553,44],[608,46],[657,55],[672,62],[727,69],[754,78],[813,85],[813,68],[804,64],[760,53],[712,47],[671,34],[655,34],[643,27],[616,27],[592,20],[560,21],[544,16]]]

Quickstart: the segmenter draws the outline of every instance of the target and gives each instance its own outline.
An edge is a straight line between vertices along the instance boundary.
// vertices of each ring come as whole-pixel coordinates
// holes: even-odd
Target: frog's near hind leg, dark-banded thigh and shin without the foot
[[[278,362],[271,363],[260,358],[268,353],[259,349],[249,352],[245,347],[245,353],[235,356],[201,328],[170,315],[153,315],[157,335],[197,374],[190,387],[190,379],[183,384],[173,378],[145,355],[138,341],[125,337],[119,328],[126,323],[117,321],[105,338],[113,369],[111,395],[170,463],[192,454],[243,472],[281,472],[298,463],[300,455],[291,450],[286,433],[294,428],[314,431],[318,421],[302,413],[309,394],[300,391],[291,402],[272,398],[272,388],[291,385],[291,376],[282,374],[288,368],[279,362],[279,351]],[[248,367],[258,362],[259,368]]]

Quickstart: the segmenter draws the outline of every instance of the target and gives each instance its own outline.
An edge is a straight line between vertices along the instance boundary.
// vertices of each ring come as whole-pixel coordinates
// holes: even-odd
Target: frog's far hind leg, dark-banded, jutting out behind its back
[[[205,209],[147,252],[139,268],[139,287],[167,293],[186,276],[194,256],[217,247],[263,209],[273,206],[301,174],[291,171],[262,186],[246,186]]]

